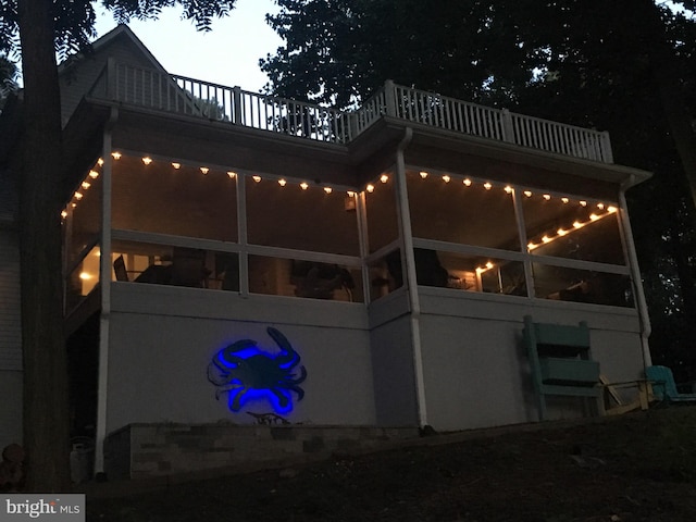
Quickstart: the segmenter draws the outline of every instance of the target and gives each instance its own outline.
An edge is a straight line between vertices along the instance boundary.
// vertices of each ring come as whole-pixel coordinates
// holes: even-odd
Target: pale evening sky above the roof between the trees
[[[95,8],[96,29],[103,36],[116,23],[101,2]],[[265,23],[265,14],[277,11],[273,0],[237,0],[229,16],[215,18],[209,33],[181,20],[181,7],[162,11],[157,21],[133,20],[128,26],[169,73],[258,92],[268,82],[259,59],[283,44]]]

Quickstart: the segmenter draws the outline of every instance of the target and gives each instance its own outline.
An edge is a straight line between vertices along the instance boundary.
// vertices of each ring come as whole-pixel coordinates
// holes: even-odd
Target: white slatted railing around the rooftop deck
[[[359,109],[343,112],[110,62],[92,94],[123,103],[334,144],[347,144],[378,119],[391,116],[573,158],[613,161],[608,133],[492,109],[393,82],[386,82]]]

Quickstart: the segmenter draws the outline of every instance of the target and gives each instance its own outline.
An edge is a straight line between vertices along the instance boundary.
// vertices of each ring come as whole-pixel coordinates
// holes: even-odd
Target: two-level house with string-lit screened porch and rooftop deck
[[[351,112],[264,97],[170,74],[126,26],[61,87],[73,433],[97,471],[128,426],[536,421],[525,315],[585,322],[610,381],[649,364],[624,199],[649,174],[606,133],[391,82]]]

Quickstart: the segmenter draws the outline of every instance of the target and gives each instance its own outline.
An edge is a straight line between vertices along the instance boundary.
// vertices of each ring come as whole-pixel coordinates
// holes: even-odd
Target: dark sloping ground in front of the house
[[[99,487],[88,521],[693,521],[696,407],[438,434],[117,498]]]

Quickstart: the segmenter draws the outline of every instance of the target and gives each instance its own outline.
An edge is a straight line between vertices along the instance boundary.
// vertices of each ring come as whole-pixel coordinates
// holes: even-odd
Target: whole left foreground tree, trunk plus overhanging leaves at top
[[[157,18],[181,5],[199,30],[236,0],[102,0],[119,22]],[[70,485],[67,372],[63,334],[60,171],[62,129],[55,50],[61,57],[95,36],[90,0],[0,0],[0,51],[22,55],[24,77],[20,235],[24,445],[27,489]],[[17,39],[18,35],[18,39]]]

